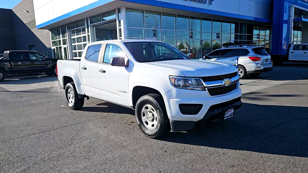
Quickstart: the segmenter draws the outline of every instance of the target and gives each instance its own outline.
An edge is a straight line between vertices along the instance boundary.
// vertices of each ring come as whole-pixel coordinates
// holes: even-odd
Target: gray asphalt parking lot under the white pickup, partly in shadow
[[[160,140],[128,108],[70,110],[55,80],[0,83],[0,172],[308,172],[308,65],[248,76],[234,117]]]

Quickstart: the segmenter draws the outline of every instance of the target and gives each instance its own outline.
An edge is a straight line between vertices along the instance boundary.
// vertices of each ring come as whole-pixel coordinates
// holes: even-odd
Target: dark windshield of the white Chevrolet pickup
[[[176,48],[163,42],[126,42],[124,45],[138,62],[189,59]]]

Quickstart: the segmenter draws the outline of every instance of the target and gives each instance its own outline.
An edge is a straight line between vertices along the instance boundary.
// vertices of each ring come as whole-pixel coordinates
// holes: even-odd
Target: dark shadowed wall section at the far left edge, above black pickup
[[[15,49],[12,15],[12,10],[0,9],[0,54]]]

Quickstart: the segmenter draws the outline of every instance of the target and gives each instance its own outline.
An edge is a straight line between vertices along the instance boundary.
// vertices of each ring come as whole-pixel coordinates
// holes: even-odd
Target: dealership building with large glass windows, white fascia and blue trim
[[[50,31],[50,56],[64,59],[112,39],[163,41],[191,58],[228,42],[271,54],[308,42],[307,0],[33,0],[33,8],[36,29]]]

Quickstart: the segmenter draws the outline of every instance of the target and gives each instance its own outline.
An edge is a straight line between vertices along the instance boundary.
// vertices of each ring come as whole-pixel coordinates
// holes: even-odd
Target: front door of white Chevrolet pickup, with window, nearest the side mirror
[[[113,57],[126,57],[122,45],[106,44],[105,52],[98,65],[100,97],[119,103],[129,104],[128,74],[129,68],[110,65]],[[127,58],[125,58],[127,60]]]

